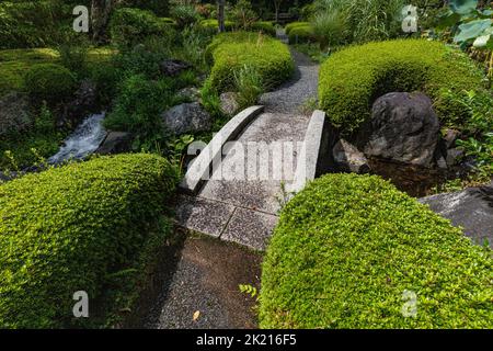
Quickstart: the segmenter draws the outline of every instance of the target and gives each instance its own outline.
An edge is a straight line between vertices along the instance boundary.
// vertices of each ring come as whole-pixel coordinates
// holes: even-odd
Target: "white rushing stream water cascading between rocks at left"
[[[94,152],[106,136],[102,124],[103,118],[104,113],[85,118],[65,140],[60,150],[48,159],[48,162],[55,165],[69,159],[82,159]]]

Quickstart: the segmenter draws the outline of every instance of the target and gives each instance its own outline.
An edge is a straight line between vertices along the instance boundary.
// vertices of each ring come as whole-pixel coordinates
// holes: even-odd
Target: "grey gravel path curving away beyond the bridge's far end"
[[[319,65],[293,48],[291,56],[296,65],[291,80],[261,97],[260,104],[265,105],[266,112],[297,114],[308,99],[318,97]]]

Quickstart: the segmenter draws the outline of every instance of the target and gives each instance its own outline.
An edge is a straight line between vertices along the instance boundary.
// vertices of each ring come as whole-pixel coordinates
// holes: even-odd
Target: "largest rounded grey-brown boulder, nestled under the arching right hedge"
[[[364,152],[402,163],[431,167],[439,122],[423,93],[391,92],[375,102],[365,128]]]

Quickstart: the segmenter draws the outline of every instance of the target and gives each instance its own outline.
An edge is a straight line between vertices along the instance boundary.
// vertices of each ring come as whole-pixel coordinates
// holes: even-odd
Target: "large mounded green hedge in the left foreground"
[[[71,318],[73,293],[88,292],[94,313],[110,275],[152,239],[175,182],[163,158],[122,155],[0,185],[0,327],[91,322]]]

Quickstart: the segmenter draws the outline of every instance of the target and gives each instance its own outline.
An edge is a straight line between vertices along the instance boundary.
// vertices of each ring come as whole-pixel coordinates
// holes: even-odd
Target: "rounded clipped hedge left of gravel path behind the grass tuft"
[[[259,70],[266,89],[286,81],[294,70],[288,47],[257,33],[219,34],[207,47],[207,56],[214,61],[209,83],[219,92],[233,88],[234,71],[245,65]]]

